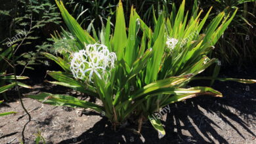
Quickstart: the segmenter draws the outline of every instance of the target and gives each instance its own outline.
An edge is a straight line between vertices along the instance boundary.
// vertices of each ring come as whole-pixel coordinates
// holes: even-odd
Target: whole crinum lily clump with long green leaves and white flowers
[[[62,37],[53,36],[56,41],[54,48],[61,56],[43,53],[63,69],[48,71],[48,75],[56,79],[51,83],[89,94],[100,99],[102,104],[60,94],[41,93],[27,97],[51,105],[83,107],[104,113],[114,129],[129,119],[135,119],[140,132],[142,121],[149,119],[159,134],[165,135],[161,121],[154,117],[161,107],[200,95],[222,96],[213,88],[186,88],[186,85],[194,79],[201,79],[196,75],[218,62],[215,58],[208,58],[207,54],[213,50],[236,11],[232,16],[224,16],[221,12],[203,31],[210,10],[201,20],[202,11],[198,13],[197,5],[194,5],[189,19],[188,12],[184,15],[183,1],[178,12],[173,5],[171,14],[160,14],[159,18],[154,16],[153,31],[132,8],[126,29],[123,6],[119,1],[114,33],[108,18],[106,27],[102,27],[98,34],[93,31],[92,37],[68,13],[62,1],[56,3],[71,33],[63,30]]]

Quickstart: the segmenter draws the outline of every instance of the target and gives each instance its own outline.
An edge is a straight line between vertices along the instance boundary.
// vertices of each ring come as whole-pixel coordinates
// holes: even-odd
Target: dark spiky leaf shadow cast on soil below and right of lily
[[[162,122],[166,135],[161,139],[149,122],[142,126],[141,135],[137,135],[125,129],[114,132],[106,118],[102,118],[78,137],[60,143],[230,143],[230,139],[235,139],[233,135],[238,135],[242,141],[250,141],[248,137],[256,136],[252,132],[256,125],[253,124],[255,92],[245,91],[245,84],[231,82],[230,85],[235,89],[226,90],[218,82],[214,86],[222,88],[224,98],[201,96],[171,104],[171,113]],[[255,86],[253,84],[251,90],[256,89]],[[137,129],[136,126],[133,128]]]

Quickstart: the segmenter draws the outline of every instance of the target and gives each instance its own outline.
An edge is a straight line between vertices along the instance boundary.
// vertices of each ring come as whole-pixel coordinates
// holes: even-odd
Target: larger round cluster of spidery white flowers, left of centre
[[[107,46],[87,45],[85,50],[73,54],[70,69],[76,79],[85,79],[89,73],[89,81],[91,81],[93,73],[102,79],[102,75],[115,67],[115,61],[116,54],[110,52]]]

